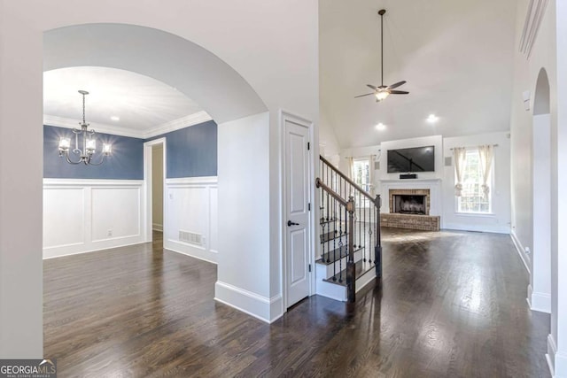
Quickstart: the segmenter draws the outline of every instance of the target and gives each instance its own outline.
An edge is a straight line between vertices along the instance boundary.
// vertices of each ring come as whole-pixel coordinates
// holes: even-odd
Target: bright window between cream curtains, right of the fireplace
[[[491,177],[488,179],[490,193],[493,192],[493,171],[492,168]],[[490,193],[484,196],[482,184],[482,167],[478,150],[467,150],[462,172],[462,193],[461,197],[457,197],[457,212],[492,212],[492,196]]]

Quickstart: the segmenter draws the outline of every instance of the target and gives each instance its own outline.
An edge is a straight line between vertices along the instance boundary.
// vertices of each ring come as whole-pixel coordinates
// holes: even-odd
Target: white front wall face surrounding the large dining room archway
[[[43,357],[42,220],[36,216],[43,194],[43,32],[77,23],[108,22],[165,30],[211,51],[252,86],[270,113],[269,137],[261,141],[269,150],[264,157],[268,179],[260,197],[269,197],[265,223],[272,231],[268,245],[262,235],[254,235],[248,248],[253,247],[249,253],[259,259],[267,254],[273,262],[262,267],[270,276],[268,297],[274,297],[281,293],[279,110],[313,120],[313,142],[318,146],[317,5],[316,0],[222,4],[123,0],[120,6],[111,0],[0,1],[0,357]],[[219,99],[218,87],[206,93],[210,101]],[[230,106],[229,100],[223,97],[222,103]],[[26,141],[27,158],[14,159],[21,154],[21,141]],[[257,163],[249,159],[242,169],[249,172]],[[246,187],[245,182],[238,186],[241,184]],[[220,218],[219,226],[225,221]],[[234,235],[227,246],[239,240]],[[242,282],[248,284],[246,279]],[[20,311],[13,312],[13,308]]]

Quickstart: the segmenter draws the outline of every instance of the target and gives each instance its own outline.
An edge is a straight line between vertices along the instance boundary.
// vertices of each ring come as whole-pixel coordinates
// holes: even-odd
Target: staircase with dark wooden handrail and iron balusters
[[[319,159],[315,290],[323,297],[354,302],[357,291],[382,277],[380,197],[371,197],[327,159]]]

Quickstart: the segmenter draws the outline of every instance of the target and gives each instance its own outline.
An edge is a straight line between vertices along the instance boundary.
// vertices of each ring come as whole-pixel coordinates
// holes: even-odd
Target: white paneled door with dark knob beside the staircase
[[[284,119],[287,306],[309,296],[309,128]]]

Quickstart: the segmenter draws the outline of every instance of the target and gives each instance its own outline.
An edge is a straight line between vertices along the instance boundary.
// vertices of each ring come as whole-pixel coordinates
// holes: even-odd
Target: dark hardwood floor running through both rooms
[[[161,240],[45,260],[44,355],[60,377],[549,377],[509,235],[384,228],[384,280],[268,325],[215,303],[214,265]]]

